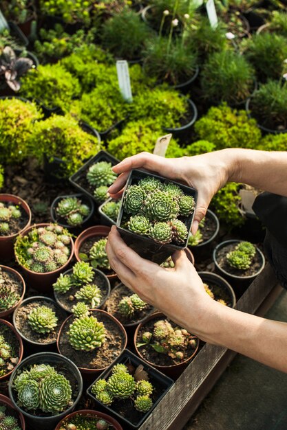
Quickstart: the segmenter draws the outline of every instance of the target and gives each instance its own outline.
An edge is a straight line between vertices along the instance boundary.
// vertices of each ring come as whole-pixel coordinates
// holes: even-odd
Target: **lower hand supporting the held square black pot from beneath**
[[[173,254],[173,269],[165,269],[127,247],[116,227],[111,227],[107,256],[118,278],[145,302],[161,310],[176,324],[195,335],[209,325],[214,300],[206,294],[202,280],[184,251]]]

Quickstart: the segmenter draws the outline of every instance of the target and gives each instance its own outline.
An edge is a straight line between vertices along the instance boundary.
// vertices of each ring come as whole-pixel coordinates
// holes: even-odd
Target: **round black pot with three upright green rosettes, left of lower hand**
[[[88,309],[100,308],[111,291],[107,276],[83,261],[61,273],[53,288],[56,302],[68,313],[74,313],[78,303]]]

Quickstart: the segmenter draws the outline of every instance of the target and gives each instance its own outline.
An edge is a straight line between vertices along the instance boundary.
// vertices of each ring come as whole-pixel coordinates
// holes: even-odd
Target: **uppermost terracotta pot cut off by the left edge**
[[[14,258],[14,241],[19,234],[31,225],[32,212],[25,200],[21,199],[19,196],[14,196],[14,194],[0,194],[0,202],[21,205],[22,209],[28,215],[27,224],[23,229],[18,231],[18,233],[12,234],[11,236],[0,236],[0,260],[12,260],[12,258]]]

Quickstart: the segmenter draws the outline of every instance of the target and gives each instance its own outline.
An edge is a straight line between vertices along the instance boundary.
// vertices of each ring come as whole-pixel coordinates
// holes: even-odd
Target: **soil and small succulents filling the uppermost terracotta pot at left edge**
[[[29,216],[21,205],[14,205],[12,202],[1,202],[0,212],[5,212],[3,216],[2,213],[0,214],[0,236],[17,234],[28,224]],[[8,228],[4,228],[3,224],[8,225]]]

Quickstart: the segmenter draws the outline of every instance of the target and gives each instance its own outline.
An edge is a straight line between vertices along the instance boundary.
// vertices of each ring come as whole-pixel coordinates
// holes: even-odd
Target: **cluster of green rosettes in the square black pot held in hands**
[[[187,240],[189,231],[184,220],[193,213],[195,201],[175,183],[154,177],[140,179],[127,188],[123,205],[130,231],[162,245],[180,245]]]

